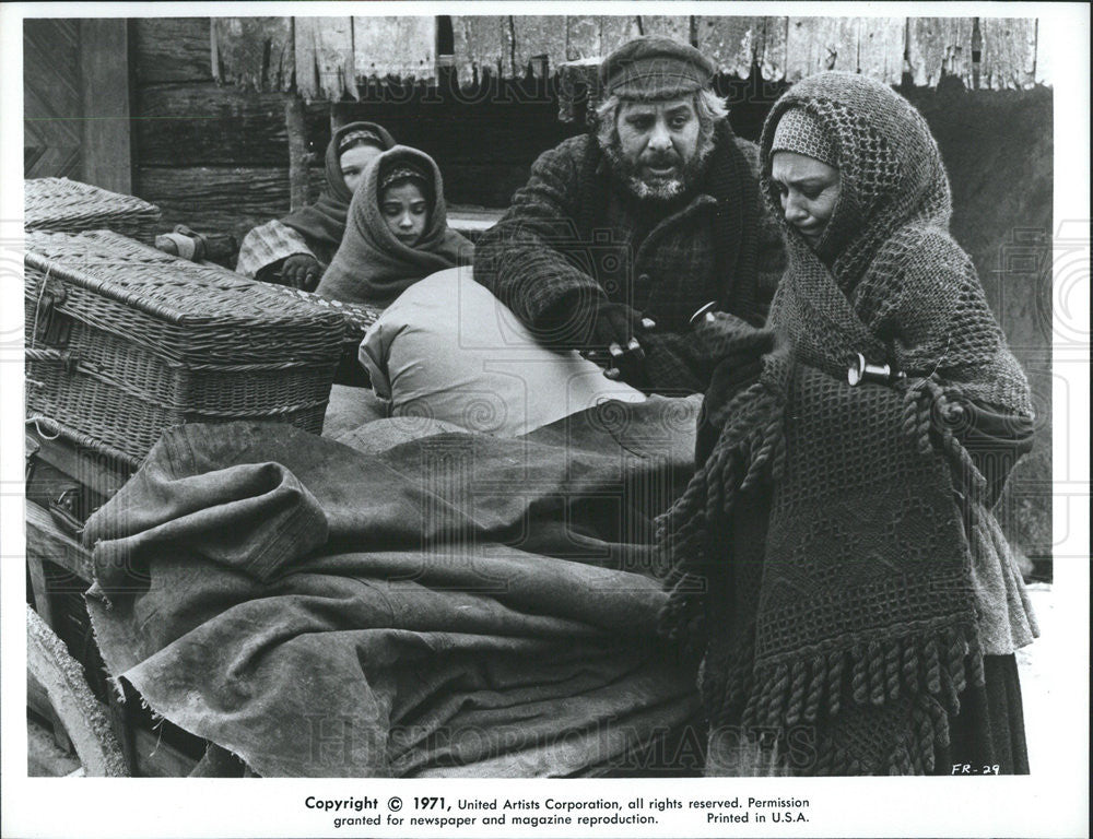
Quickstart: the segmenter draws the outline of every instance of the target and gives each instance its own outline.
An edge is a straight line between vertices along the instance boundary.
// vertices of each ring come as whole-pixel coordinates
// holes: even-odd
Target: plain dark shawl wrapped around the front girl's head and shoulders
[[[421,240],[409,247],[387,227],[379,208],[379,179],[399,162],[431,174],[433,206]],[[350,204],[341,247],[316,288],[332,300],[386,306],[408,287],[446,268],[470,264],[474,246],[448,227],[444,182],[436,163],[424,152],[397,145],[368,165]]]

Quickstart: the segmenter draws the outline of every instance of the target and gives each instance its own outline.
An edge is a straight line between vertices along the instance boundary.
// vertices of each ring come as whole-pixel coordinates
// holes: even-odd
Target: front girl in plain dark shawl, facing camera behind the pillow
[[[403,203],[414,189],[427,206],[418,214],[419,202],[404,201],[409,215],[418,216],[420,229],[403,236],[399,221],[407,216],[393,215],[395,204]],[[424,152],[397,145],[365,173],[350,204],[341,247],[315,291],[332,300],[387,306],[419,280],[468,265],[473,258],[474,246],[448,227],[436,163]]]

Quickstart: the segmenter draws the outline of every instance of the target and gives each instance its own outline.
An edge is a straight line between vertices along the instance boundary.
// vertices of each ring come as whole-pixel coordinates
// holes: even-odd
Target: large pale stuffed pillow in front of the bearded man
[[[392,416],[516,437],[604,400],[645,394],[577,352],[540,346],[470,267],[407,288],[368,329],[361,363]]]

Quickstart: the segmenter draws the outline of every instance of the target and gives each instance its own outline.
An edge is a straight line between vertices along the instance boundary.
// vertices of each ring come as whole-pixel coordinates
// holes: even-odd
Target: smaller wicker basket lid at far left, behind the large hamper
[[[148,201],[68,178],[26,180],[24,190],[23,226],[27,231],[107,229],[148,245],[155,240],[160,208]]]

